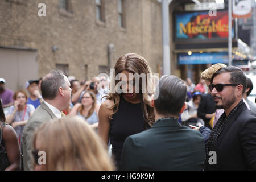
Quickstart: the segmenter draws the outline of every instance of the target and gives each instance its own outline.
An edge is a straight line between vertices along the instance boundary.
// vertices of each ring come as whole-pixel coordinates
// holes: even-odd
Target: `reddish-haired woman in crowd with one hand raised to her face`
[[[16,91],[13,96],[14,105],[10,107],[6,116],[6,122],[13,126],[18,135],[19,144],[22,140],[24,127],[35,110],[32,104],[27,104],[27,98],[27,93],[24,90]]]

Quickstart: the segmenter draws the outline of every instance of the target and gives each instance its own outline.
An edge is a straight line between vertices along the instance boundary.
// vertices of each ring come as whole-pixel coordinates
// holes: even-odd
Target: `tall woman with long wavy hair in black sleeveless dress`
[[[120,168],[122,147],[125,139],[133,134],[140,133],[152,126],[154,123],[154,110],[151,107],[151,96],[154,90],[152,77],[146,80],[140,78],[139,93],[135,92],[135,85],[138,86],[138,80],[131,78],[129,74],[152,76],[151,69],[142,56],[135,53],[128,53],[119,57],[114,66],[114,74],[111,77],[110,94],[106,96],[106,101],[101,104],[99,111],[98,134],[108,144],[112,144],[112,156],[115,159],[115,165]],[[142,75],[143,75],[142,74]],[[119,89],[118,76],[126,77],[119,80],[122,93]],[[135,82],[134,82],[135,81]],[[134,84],[135,83],[135,84]],[[147,90],[143,90],[143,85]],[[137,88],[138,90],[138,88]]]

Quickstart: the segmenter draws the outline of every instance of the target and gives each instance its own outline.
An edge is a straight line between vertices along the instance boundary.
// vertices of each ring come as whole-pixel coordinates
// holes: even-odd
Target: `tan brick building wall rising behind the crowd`
[[[39,77],[56,64],[69,64],[69,75],[78,79],[98,74],[108,65],[108,45],[114,44],[112,64],[124,53],[144,56],[154,72],[162,64],[161,6],[156,0],[126,0],[126,28],[118,26],[118,1],[105,0],[105,22],[96,20],[94,0],[69,0],[71,12],[58,0],[1,0],[0,46],[38,51]],[[38,4],[46,4],[46,17]],[[59,50],[53,52],[52,46]]]

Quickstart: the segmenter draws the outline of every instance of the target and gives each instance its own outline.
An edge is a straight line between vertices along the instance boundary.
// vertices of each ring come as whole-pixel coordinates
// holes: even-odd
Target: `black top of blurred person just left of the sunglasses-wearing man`
[[[212,129],[209,125],[210,119],[206,118],[205,115],[212,114],[215,111],[216,107],[213,97],[209,93],[203,94],[197,109],[197,115],[204,120],[204,125],[210,129]]]

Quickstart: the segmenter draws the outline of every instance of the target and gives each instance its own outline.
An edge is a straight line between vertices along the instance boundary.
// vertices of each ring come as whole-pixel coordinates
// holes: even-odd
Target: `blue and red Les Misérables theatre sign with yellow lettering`
[[[176,13],[175,22],[176,39],[214,39],[229,36],[228,11],[218,10],[216,16],[210,16],[209,11]]]

